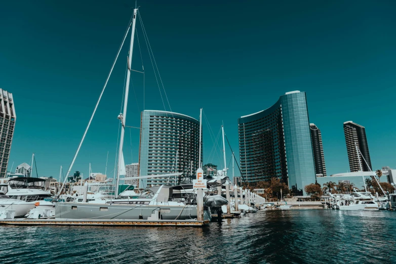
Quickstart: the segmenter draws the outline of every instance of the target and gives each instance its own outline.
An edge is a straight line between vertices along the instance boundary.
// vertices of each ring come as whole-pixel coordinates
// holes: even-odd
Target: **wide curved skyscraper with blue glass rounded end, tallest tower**
[[[295,193],[315,183],[305,92],[281,96],[266,110],[238,119],[241,170],[255,185],[282,179]]]

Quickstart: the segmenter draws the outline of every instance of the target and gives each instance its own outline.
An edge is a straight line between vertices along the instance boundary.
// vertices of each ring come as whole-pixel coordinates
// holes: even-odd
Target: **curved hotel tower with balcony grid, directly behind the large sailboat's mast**
[[[177,171],[190,176],[191,162],[195,175],[199,160],[199,135],[200,122],[195,118],[168,111],[144,110],[141,113],[139,175]],[[175,184],[175,177],[141,179],[139,188],[166,184],[168,180],[170,184]]]

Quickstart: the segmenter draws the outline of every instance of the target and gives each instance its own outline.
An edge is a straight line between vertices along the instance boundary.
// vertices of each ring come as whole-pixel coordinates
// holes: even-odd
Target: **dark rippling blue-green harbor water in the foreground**
[[[395,263],[396,212],[270,210],[201,228],[0,226],[0,263]]]

